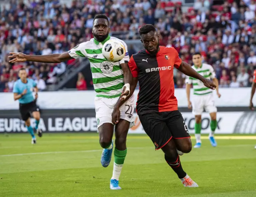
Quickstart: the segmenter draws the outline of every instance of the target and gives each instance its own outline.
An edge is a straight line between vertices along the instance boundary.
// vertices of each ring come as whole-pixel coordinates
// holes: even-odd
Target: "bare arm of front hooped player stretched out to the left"
[[[26,55],[24,53],[10,53],[9,58],[10,63],[16,63],[19,61],[36,61],[42,63],[61,63],[62,61],[68,61],[74,59],[68,52],[60,54],[50,54],[50,55]]]

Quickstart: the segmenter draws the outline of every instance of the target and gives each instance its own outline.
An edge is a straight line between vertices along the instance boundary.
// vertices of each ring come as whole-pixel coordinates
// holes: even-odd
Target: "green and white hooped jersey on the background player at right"
[[[203,63],[200,67],[195,67],[193,65],[192,68],[206,79],[216,78],[214,69],[209,64]],[[186,76],[186,83],[193,84],[194,95],[206,95],[213,91],[212,89],[205,87],[202,81],[189,76]]]

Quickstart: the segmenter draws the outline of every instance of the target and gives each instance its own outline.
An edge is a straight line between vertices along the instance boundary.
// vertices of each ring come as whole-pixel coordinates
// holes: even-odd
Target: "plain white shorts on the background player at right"
[[[193,95],[192,113],[194,115],[201,115],[204,109],[209,113],[217,112],[212,93],[207,95]]]

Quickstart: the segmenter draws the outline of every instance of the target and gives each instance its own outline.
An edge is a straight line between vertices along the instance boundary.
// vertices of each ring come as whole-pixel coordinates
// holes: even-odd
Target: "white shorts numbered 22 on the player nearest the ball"
[[[114,99],[107,99],[104,97],[96,97],[94,99],[97,128],[99,128],[104,123],[112,123],[112,112],[114,106],[118,101],[119,97]],[[120,107],[120,119],[127,120],[130,122],[130,128],[134,126],[134,95],[130,97],[121,107]]]

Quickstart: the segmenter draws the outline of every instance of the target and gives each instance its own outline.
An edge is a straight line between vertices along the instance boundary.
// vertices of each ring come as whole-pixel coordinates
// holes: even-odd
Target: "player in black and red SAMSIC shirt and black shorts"
[[[185,187],[198,187],[182,169],[176,151],[189,153],[192,144],[174,96],[173,69],[176,67],[185,75],[199,79],[210,89],[215,89],[216,85],[182,62],[173,47],[159,46],[159,34],[154,26],[144,25],[139,32],[145,49],[132,55],[128,65],[133,77],[133,83],[130,83],[133,85],[139,81],[140,84],[136,107],[140,122],[156,150],[162,149],[166,162],[177,173],[182,184]],[[112,114],[113,122],[119,119],[117,109],[124,101],[117,103]]]

